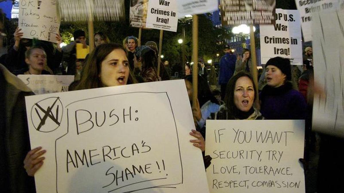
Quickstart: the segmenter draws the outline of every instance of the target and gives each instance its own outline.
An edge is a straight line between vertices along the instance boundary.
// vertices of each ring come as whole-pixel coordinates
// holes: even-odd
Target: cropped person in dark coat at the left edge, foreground
[[[34,95],[23,81],[0,64],[0,189],[34,193],[34,178],[23,168],[30,151],[25,96]]]

